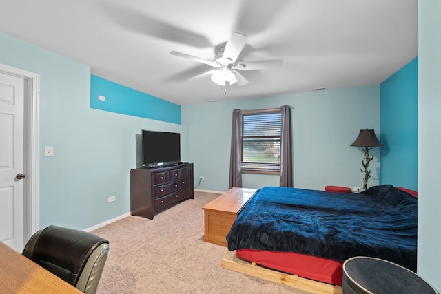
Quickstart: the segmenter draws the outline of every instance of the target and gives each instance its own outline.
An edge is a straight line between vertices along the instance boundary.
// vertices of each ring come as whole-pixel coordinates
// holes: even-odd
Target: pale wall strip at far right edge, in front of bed
[[[441,291],[441,1],[418,19],[418,275]]]

